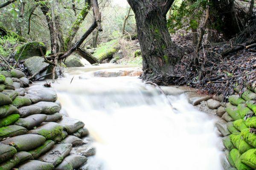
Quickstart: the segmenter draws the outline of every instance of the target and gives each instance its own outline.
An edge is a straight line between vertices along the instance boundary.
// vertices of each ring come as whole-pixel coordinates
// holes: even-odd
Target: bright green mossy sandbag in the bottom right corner
[[[256,149],[250,149],[243,153],[240,157],[240,160],[247,166],[256,169]]]

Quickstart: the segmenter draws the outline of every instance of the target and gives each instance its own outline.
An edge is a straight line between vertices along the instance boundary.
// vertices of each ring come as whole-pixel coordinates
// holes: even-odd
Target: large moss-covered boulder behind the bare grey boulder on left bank
[[[15,52],[12,53],[12,57],[15,58],[16,61],[18,61],[34,56],[42,56],[42,52],[40,49],[42,49],[42,52],[45,55],[47,49],[44,43],[38,41],[28,42],[23,44],[22,46],[18,46]]]

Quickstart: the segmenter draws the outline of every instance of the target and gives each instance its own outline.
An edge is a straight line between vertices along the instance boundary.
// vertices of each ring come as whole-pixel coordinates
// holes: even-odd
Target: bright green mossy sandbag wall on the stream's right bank
[[[222,119],[216,123],[216,126],[224,136],[222,141],[226,148],[222,164],[225,170],[254,170],[256,169],[256,88],[247,89],[241,97],[239,89],[235,91],[237,94],[229,96],[229,102],[217,109]]]

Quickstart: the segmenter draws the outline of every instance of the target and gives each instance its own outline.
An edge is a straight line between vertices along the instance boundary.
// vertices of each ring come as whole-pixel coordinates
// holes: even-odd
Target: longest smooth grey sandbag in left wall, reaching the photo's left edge
[[[26,134],[8,138],[2,144],[12,145],[17,151],[28,151],[44,144],[45,138],[41,135]]]

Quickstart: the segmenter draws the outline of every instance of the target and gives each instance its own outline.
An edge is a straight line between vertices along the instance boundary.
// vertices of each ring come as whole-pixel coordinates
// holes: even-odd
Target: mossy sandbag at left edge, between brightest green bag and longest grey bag
[[[0,140],[3,140],[8,137],[14,137],[18,135],[24,135],[27,133],[25,127],[17,126],[17,125],[10,125],[6,127],[0,128]]]

